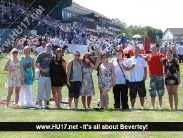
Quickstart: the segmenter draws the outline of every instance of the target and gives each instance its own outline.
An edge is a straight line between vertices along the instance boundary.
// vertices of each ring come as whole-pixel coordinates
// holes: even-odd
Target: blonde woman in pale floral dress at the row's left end
[[[6,61],[4,71],[8,71],[5,86],[8,87],[8,95],[6,97],[6,107],[9,106],[11,95],[15,88],[15,104],[18,108],[19,91],[21,84],[23,84],[24,76],[21,74],[20,61],[18,59],[18,50],[13,48],[11,51],[11,58]]]

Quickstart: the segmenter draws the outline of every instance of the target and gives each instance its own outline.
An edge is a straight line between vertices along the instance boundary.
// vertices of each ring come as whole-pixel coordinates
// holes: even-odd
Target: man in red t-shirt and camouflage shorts
[[[149,92],[151,96],[151,109],[154,109],[156,91],[158,92],[158,100],[159,100],[159,109],[162,109],[162,96],[164,95],[164,79],[163,79],[163,68],[162,63],[160,61],[161,58],[165,56],[159,52],[157,52],[156,45],[151,45],[151,53],[147,55],[146,61],[149,66],[149,76],[150,76],[150,84],[149,84]]]

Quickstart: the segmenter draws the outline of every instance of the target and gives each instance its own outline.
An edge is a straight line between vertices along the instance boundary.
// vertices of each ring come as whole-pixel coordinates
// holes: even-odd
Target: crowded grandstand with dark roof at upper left
[[[90,34],[114,37],[121,31],[108,17],[72,0],[0,0],[0,15],[2,43],[32,34],[75,40]]]

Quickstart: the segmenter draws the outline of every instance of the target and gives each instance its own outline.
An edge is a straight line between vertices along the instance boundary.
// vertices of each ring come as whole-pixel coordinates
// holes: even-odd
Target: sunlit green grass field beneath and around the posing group
[[[7,72],[3,71],[6,56],[0,58],[0,99],[3,99],[7,94],[7,88],[4,87]],[[66,61],[71,57],[65,56]],[[182,71],[183,65],[180,65]],[[95,83],[95,96],[92,98],[91,108],[97,108],[95,99],[99,98],[98,81],[96,71],[93,72],[93,79]],[[181,72],[181,80],[183,75]],[[149,80],[146,81],[146,89],[148,90]],[[151,108],[150,96],[147,91],[145,99],[146,110],[140,110],[140,102],[136,100],[136,110],[113,110],[113,94],[112,89],[109,92],[109,110],[84,110],[82,109],[81,100],[79,101],[80,110],[67,110],[67,106],[62,106],[63,110],[29,110],[29,109],[15,109],[12,104],[5,109],[5,105],[0,105],[0,122],[182,122],[183,121],[183,86],[179,86],[179,106],[177,111],[169,111],[168,94],[165,89],[163,97],[163,110],[158,110],[158,100],[156,99],[156,110],[149,110]],[[66,87],[62,90],[63,101],[68,97],[68,90]],[[36,101],[37,96],[37,81],[33,85],[33,101]],[[14,99],[14,95],[12,95]],[[34,104],[35,105],[35,104]],[[129,105],[130,102],[129,102]],[[36,105],[35,105],[36,106]],[[51,104],[54,107],[54,103]],[[74,103],[72,104],[74,107]],[[1,125],[1,124],[0,124]],[[18,126],[17,126],[18,127]],[[139,137],[139,138],[171,138],[182,137],[182,132],[0,132],[0,138],[124,138],[124,137]]]

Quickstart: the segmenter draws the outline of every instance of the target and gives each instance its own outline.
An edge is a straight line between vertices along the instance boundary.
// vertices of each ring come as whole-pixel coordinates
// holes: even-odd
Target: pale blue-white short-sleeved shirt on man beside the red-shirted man
[[[132,64],[136,64],[135,68],[130,70],[130,82],[139,82],[144,79],[144,67],[147,67],[147,63],[142,57],[132,57],[128,59],[127,67],[131,67]]]

